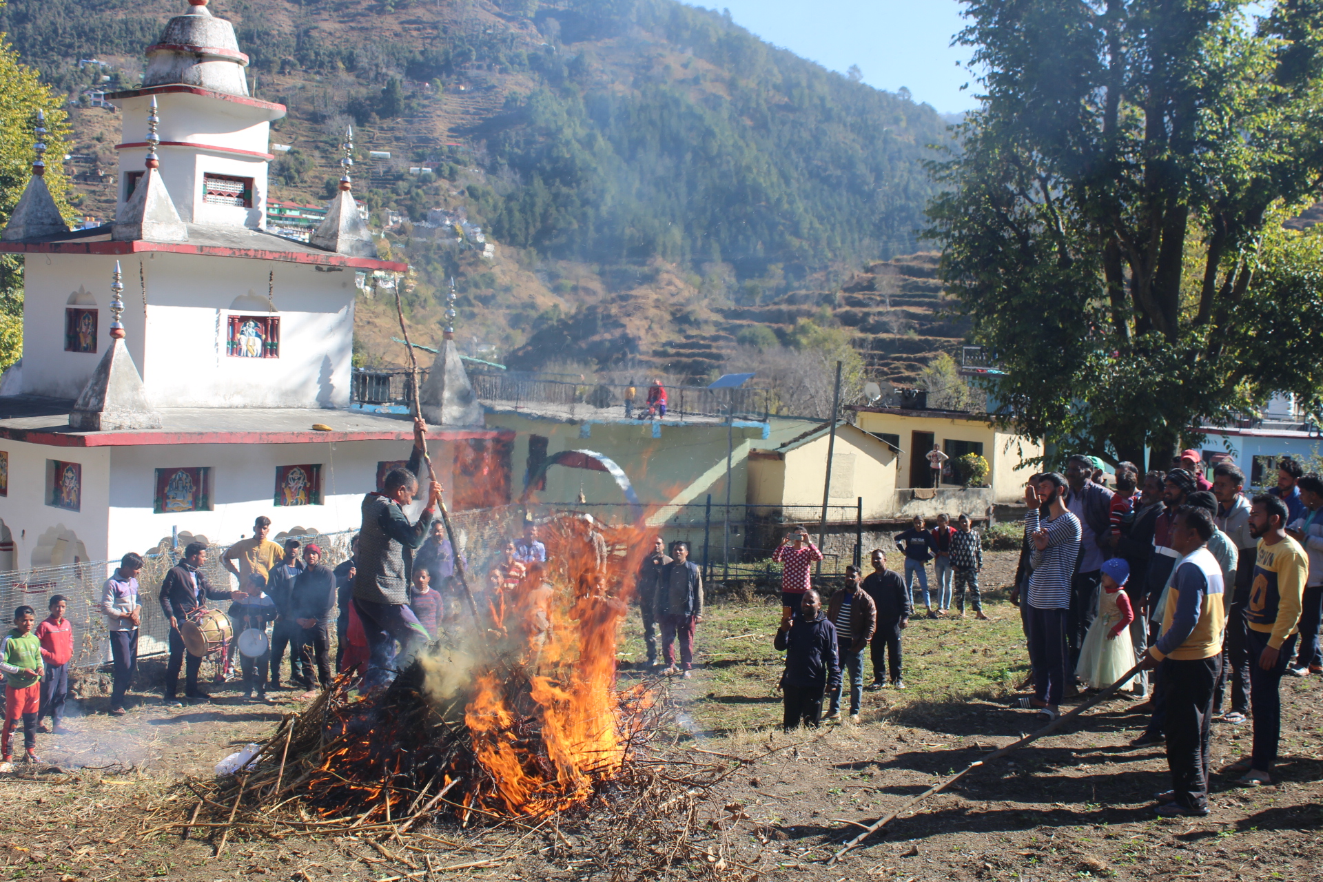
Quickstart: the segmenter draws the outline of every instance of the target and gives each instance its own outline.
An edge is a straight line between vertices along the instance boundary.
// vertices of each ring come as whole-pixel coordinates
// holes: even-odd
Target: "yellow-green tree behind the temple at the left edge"
[[[42,85],[37,71],[21,65],[0,34],[0,227],[9,222],[32,177],[36,111],[46,112],[46,186],[66,216],[67,179],[64,173],[69,122],[64,99]],[[0,254],[0,369],[22,354],[22,259]]]

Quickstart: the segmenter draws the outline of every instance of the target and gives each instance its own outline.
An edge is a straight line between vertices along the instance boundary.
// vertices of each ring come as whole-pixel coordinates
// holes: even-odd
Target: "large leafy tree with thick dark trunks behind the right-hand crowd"
[[[1166,461],[1274,390],[1318,409],[1290,336],[1316,245],[1279,223],[1323,180],[1323,4],[963,1],[986,95],[929,235],[1004,413],[1062,452]]]

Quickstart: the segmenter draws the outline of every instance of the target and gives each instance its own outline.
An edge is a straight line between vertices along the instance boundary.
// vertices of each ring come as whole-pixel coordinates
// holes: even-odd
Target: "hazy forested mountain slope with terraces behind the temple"
[[[0,28],[78,98],[134,85],[142,49],[183,8],[8,0]],[[411,315],[437,336],[439,292],[455,276],[466,340],[500,356],[523,346],[529,364],[550,357],[525,345],[542,332],[561,341],[558,357],[693,369],[703,360],[683,354],[695,333],[720,342],[741,321],[771,320],[750,316],[773,301],[823,299],[806,291],[851,296],[840,286],[860,267],[917,250],[931,193],[922,161],[949,138],[926,104],[673,0],[210,8],[235,24],[255,93],[290,107],[273,132],[292,147],[275,163],[273,194],[324,200],[353,123],[356,193],[377,222],[382,209],[402,216],[384,247],[417,267]],[[93,58],[108,66],[79,65]],[[94,107],[74,116],[82,208],[105,218],[112,189],[93,167],[112,169],[118,118]],[[495,259],[427,226],[431,209],[480,225]],[[398,361],[382,304],[360,312],[363,358]],[[581,313],[632,321],[636,345],[565,350],[554,329]]]

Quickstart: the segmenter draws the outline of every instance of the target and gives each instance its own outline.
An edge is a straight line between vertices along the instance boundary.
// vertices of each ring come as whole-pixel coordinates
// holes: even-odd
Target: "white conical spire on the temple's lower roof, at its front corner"
[[[123,272],[115,261],[115,274],[110,283],[110,349],[69,413],[69,427],[85,432],[103,432],[126,428],[160,428],[161,418],[147,401],[143,377],[134,357],[124,345],[124,325],[119,317],[124,312]]]

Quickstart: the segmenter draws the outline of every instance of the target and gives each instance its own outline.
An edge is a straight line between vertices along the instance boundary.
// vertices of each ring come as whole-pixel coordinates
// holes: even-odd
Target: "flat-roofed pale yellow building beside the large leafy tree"
[[[988,484],[996,502],[1024,497],[1024,483],[1033,473],[1025,461],[1043,455],[1043,444],[996,424],[987,414],[950,410],[902,410],[853,406],[859,427],[900,448],[897,488],[933,485],[927,454],[938,444],[953,460],[980,454],[991,467]],[[950,471],[943,483],[953,483]]]

